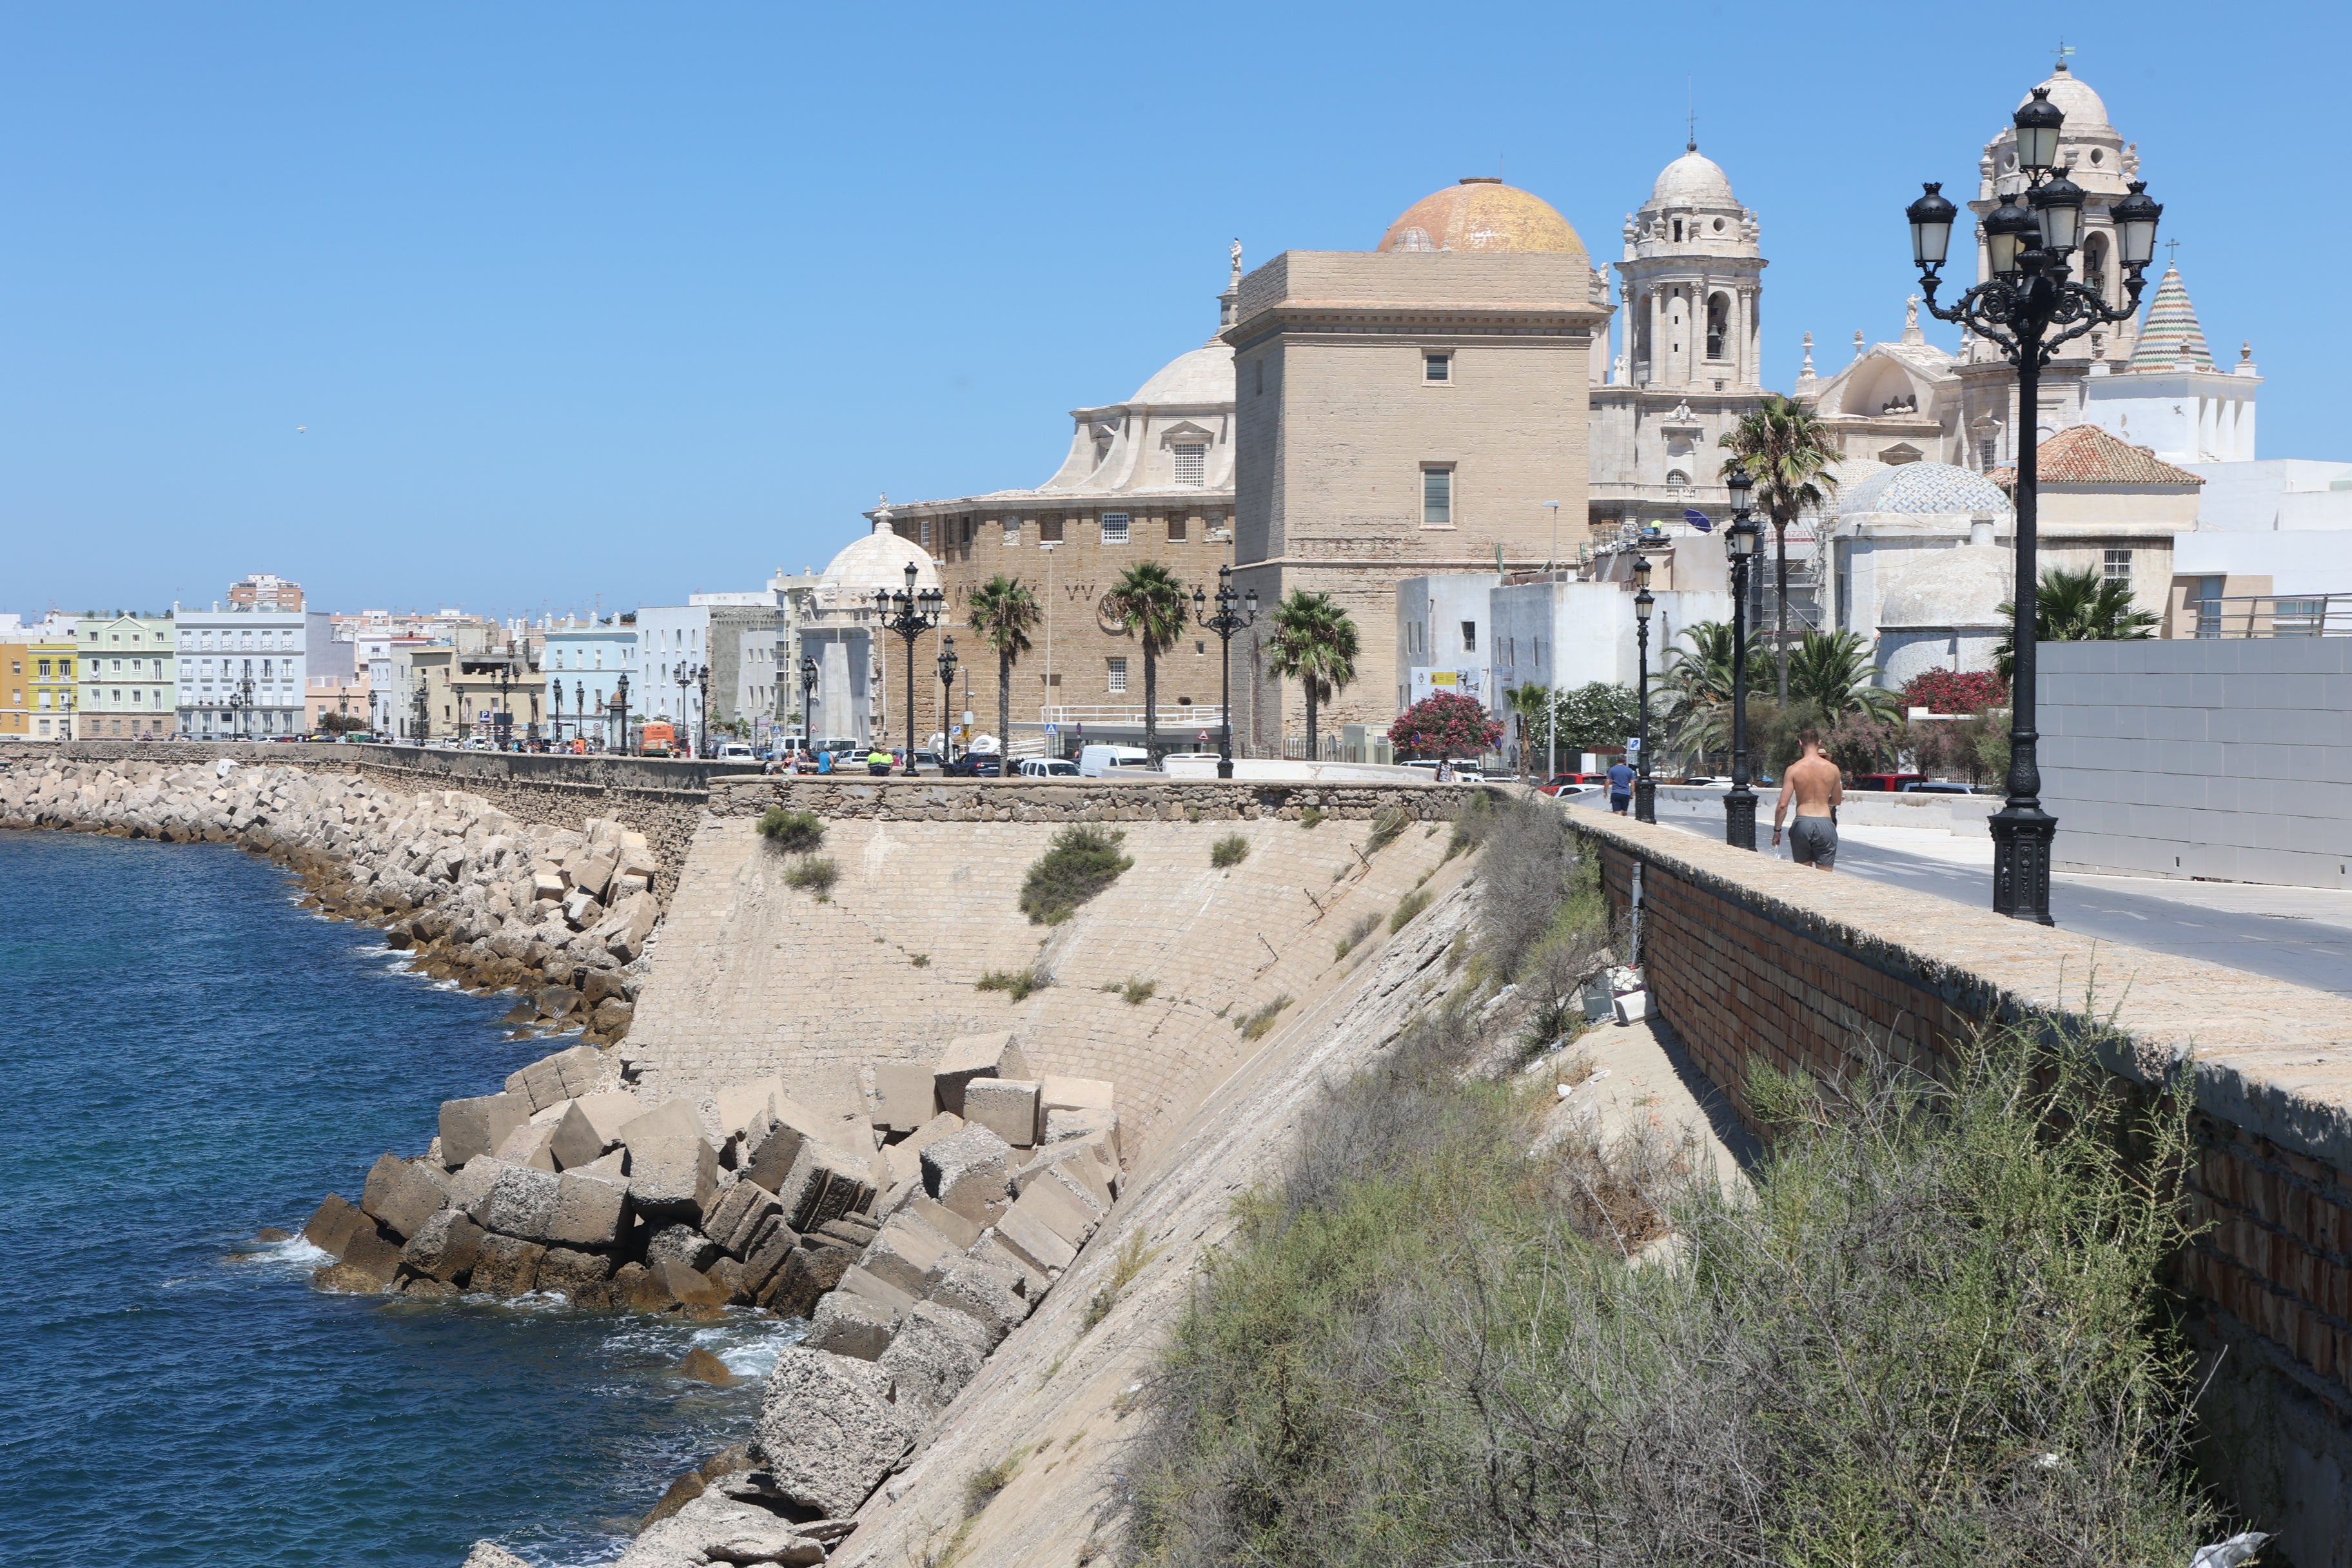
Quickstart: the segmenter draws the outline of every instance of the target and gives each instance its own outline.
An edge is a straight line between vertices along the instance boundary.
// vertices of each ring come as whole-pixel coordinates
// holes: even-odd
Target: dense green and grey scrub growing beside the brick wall
[[[1472,969],[1536,973],[1590,872],[1482,832]],[[1534,936],[1484,919],[1534,898]],[[1515,952],[1512,952],[1515,950]],[[2185,1110],[2082,1039],[1997,1030],[1940,1077],[1752,1070],[1750,1185],[1686,1145],[1536,1138],[1477,1081],[1472,987],[1338,1084],[1148,1380],[1122,1507],[1155,1566],[2185,1563]],[[1531,1154],[1534,1150],[1534,1154]],[[1668,1239],[1670,1237],[1670,1239]]]

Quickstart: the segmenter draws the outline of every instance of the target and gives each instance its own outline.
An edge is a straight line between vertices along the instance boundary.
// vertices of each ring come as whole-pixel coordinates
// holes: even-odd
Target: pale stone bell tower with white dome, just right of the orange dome
[[[1731,181],[1689,148],[1665,165],[1642,212],[1625,219],[1618,383],[1757,393],[1764,259],[1757,216]]]

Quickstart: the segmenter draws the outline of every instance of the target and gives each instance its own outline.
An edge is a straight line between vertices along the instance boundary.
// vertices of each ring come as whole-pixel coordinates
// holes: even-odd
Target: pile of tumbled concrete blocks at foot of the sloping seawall
[[[985,1103],[993,1091],[974,1088],[997,1081],[1044,1105],[1037,1079],[1002,1079],[1021,1070],[1009,1034],[950,1041],[929,1084],[868,1070],[870,1114],[856,1119],[809,1112],[779,1079],[642,1105],[576,1067],[534,1063],[487,1100],[527,1095],[550,1074],[588,1091],[534,1114],[560,1105],[557,1126],[614,1133],[569,1150],[593,1159],[553,1154],[550,1173],[489,1152],[456,1171],[386,1157],[372,1199],[353,1208],[329,1197],[306,1234],[341,1248],[320,1269],[327,1286],[536,1288],[590,1307],[809,1319],[767,1378],[755,1439],[680,1476],[616,1568],[823,1561],[1124,1187],[1112,1086],[1101,1079],[1056,1079],[1051,1093],[1098,1124],[1028,1150],[943,1110],[950,1095]],[[602,1105],[574,1117],[588,1098]],[[485,1117],[480,1100],[452,1100],[445,1128]],[[908,1145],[913,1161],[889,1159]],[[659,1178],[644,1175],[652,1166]],[[708,1182],[689,1192],[689,1171]],[[604,1197],[593,1211],[590,1192]],[[459,1267],[468,1248],[470,1274]]]

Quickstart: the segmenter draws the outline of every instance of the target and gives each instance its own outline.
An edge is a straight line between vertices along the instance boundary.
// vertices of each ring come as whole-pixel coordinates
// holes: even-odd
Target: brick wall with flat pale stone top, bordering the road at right
[[[1755,1058],[1813,1074],[1933,1060],[1987,1020],[2042,1020],[2103,1065],[2194,1095],[2180,1260],[2218,1356],[2206,1462],[2298,1568],[2352,1568],[2352,1009],[2343,997],[2096,943],[1943,898],[1571,816],[1611,903],[1637,900],[1651,1004],[1745,1117]]]

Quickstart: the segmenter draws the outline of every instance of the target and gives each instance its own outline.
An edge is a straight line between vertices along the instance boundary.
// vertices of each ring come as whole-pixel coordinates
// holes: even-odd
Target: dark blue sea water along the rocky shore
[[[0,1561],[619,1556],[797,1324],[325,1295],[299,1232],[564,1041],[212,844],[0,832]],[[694,1345],[741,1373],[675,1373]]]

